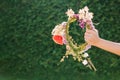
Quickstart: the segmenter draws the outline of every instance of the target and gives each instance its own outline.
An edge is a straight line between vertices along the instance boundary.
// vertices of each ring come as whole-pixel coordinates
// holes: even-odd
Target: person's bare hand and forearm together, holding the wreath
[[[100,38],[96,29],[86,30],[84,38],[88,44],[120,56],[120,43]]]

